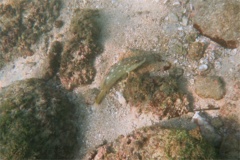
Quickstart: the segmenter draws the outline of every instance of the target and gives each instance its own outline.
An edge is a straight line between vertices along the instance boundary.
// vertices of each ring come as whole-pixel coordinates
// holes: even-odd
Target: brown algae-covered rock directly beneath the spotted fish
[[[123,93],[131,106],[160,119],[181,116],[189,109],[187,96],[181,93],[177,79],[171,76],[131,74]]]

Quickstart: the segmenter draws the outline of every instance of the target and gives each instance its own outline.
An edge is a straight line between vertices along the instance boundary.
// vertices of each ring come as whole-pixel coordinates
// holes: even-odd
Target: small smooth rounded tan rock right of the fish
[[[226,93],[224,81],[218,76],[198,76],[195,92],[202,98],[222,99]]]

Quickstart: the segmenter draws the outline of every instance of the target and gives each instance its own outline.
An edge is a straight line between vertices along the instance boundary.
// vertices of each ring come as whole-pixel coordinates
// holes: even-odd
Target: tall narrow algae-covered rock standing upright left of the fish
[[[98,15],[98,10],[74,11],[60,65],[60,79],[66,89],[90,84],[95,77],[93,62],[101,50],[97,43],[100,33],[96,21]]]

